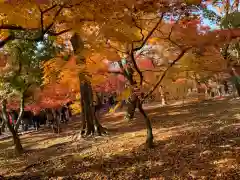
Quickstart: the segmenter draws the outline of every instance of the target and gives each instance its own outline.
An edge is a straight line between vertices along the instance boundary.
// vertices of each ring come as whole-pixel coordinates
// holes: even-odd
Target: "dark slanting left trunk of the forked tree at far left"
[[[4,99],[2,101],[3,120],[7,124],[7,127],[9,129],[9,131],[12,133],[15,152],[16,152],[17,155],[20,155],[20,154],[23,153],[23,147],[22,147],[22,144],[21,144],[21,141],[20,141],[20,138],[18,136],[17,131],[15,131],[15,129],[13,128],[13,126],[9,122],[9,119],[8,119],[8,116],[7,116],[6,104],[7,104],[7,101]]]

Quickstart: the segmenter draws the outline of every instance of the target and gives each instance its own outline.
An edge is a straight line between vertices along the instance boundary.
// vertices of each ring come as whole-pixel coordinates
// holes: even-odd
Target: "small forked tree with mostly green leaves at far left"
[[[6,58],[5,64],[1,67],[2,115],[13,135],[18,154],[22,152],[18,128],[22,121],[26,102],[34,101],[32,95],[35,89],[42,84],[42,61],[52,58],[58,51],[57,49],[53,45],[53,41],[48,39],[41,42],[14,40],[4,46],[1,52]],[[17,103],[15,107],[14,101]],[[8,119],[7,110],[9,109],[19,109],[14,126]]]

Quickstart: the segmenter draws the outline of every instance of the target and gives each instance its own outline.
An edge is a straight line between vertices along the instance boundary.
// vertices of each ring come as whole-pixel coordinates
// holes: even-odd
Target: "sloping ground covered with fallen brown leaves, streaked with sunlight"
[[[10,179],[240,179],[240,102],[151,108],[155,148],[144,147],[141,116],[104,117],[109,136],[75,140],[77,119],[60,135],[41,130],[21,136],[26,153],[15,157],[0,141],[0,174]]]

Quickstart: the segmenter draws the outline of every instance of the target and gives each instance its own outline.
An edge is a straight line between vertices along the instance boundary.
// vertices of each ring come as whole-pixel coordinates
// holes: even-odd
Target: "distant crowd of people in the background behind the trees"
[[[209,82],[208,85],[198,88],[197,91],[199,91],[199,89],[202,89],[205,92],[205,95],[207,95],[208,97],[216,97],[230,94],[232,87],[227,81],[224,81],[220,85],[217,85],[216,83],[214,84],[214,82]],[[145,103],[154,99],[154,96],[151,96],[150,99],[147,100]],[[24,111],[20,122],[21,130],[28,131],[30,127],[38,130],[41,125],[44,125],[51,127],[54,132],[59,132],[60,123],[67,123],[72,117],[70,109],[71,103],[72,102],[69,102],[59,108],[42,109],[38,113]],[[115,93],[101,97],[97,96],[96,100],[93,102],[93,106],[95,107],[95,111],[106,113],[109,112],[111,108],[116,107],[117,104],[119,104],[118,109],[121,109],[126,103],[126,100],[118,100]],[[19,111],[11,110],[7,113],[9,123],[11,124],[11,126],[15,126]],[[4,131],[6,125],[4,124],[1,116],[0,123],[1,130]]]

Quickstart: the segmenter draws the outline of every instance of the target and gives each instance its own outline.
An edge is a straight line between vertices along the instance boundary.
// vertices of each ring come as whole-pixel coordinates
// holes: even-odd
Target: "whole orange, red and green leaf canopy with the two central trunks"
[[[92,94],[127,94],[127,114],[132,118],[139,109],[146,122],[146,142],[152,147],[151,121],[142,106],[145,99],[156,91],[163,97],[163,86],[189,79],[200,83],[233,66],[226,47],[240,37],[236,20],[232,28],[222,21],[222,27],[228,28],[218,30],[203,24],[208,5],[221,6],[222,16],[232,13],[229,1],[220,4],[199,0],[1,2],[0,47],[10,56],[1,55],[1,98],[8,102],[8,109],[34,112],[77,100],[83,114],[88,113],[83,116],[87,127],[103,130],[92,111]],[[235,1],[232,5],[232,10],[238,6]],[[19,42],[26,44],[18,47]],[[41,46],[47,48],[36,53]],[[93,132],[94,128],[88,129],[86,134]]]

